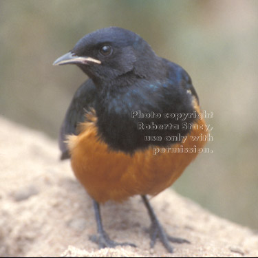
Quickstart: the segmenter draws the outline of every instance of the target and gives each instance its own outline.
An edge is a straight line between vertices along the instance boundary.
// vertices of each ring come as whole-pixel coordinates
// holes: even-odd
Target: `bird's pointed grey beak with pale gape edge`
[[[89,56],[76,56],[76,54],[68,52],[67,54],[64,54],[63,56],[57,58],[56,61],[54,61],[53,65],[67,65],[74,63],[82,65],[97,63],[98,65],[100,65],[101,62],[98,59],[94,59]]]

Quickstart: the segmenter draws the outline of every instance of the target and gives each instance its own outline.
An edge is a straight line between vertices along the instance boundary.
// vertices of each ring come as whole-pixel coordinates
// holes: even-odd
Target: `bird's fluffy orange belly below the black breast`
[[[205,122],[197,120],[196,124],[205,125]],[[202,148],[205,141],[193,141],[189,137],[201,133],[206,136],[205,127],[192,129],[184,143],[173,144],[171,148]],[[76,178],[99,203],[121,202],[132,195],[156,195],[171,186],[197,156],[195,151],[153,155],[153,147],[133,155],[111,151],[98,139],[93,115],[90,122],[81,125],[78,136],[69,136],[68,146]]]

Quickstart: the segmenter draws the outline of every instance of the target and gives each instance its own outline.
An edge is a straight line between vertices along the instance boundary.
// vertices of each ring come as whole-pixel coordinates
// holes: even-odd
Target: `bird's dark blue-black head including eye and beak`
[[[76,64],[89,77],[107,81],[131,71],[147,74],[153,58],[158,56],[138,34],[110,27],[85,35],[53,65]]]

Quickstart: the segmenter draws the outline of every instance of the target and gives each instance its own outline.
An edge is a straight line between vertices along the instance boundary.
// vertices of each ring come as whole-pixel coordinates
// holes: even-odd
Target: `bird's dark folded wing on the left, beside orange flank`
[[[66,136],[70,134],[78,134],[76,127],[79,122],[83,122],[85,120],[85,114],[87,111],[94,107],[95,99],[96,87],[91,79],[86,80],[83,85],[80,85],[74,94],[74,98],[72,98],[72,102],[67,109],[65,119],[61,126],[58,138],[59,149],[61,149],[61,160],[69,158],[69,151],[67,144],[65,143]]]

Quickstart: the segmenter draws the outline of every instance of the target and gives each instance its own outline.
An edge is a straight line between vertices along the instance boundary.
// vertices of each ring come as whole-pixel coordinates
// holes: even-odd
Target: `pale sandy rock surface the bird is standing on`
[[[137,248],[98,250],[92,201],[74,178],[69,161],[58,160],[56,142],[43,133],[0,118],[0,257],[258,257],[258,234],[205,211],[166,190],[151,200],[173,236],[168,254],[149,248],[149,217],[139,197],[102,207],[103,223],[116,241]]]

